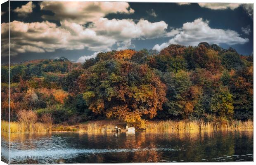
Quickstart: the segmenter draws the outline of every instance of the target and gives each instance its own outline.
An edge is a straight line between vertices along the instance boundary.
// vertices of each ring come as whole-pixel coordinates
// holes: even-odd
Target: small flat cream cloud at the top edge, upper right
[[[241,5],[241,3],[198,3],[201,7],[206,7],[213,10],[221,10],[221,9],[236,9]]]

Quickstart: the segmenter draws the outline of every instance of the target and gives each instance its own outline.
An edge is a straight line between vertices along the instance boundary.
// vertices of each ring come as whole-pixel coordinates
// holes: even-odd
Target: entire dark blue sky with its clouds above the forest
[[[1,5],[1,60],[8,61],[8,3]],[[199,42],[253,52],[253,4],[10,1],[10,59],[66,57],[155,49]]]

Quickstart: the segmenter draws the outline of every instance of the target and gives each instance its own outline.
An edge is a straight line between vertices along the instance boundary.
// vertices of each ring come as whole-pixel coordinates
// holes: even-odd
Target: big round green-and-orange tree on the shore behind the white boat
[[[79,79],[89,109],[143,128],[143,115],[153,118],[166,101],[165,85],[147,65],[119,59],[101,61]]]

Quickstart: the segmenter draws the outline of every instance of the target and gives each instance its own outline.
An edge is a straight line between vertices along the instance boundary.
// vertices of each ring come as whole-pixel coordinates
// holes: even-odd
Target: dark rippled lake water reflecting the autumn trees
[[[14,164],[253,161],[252,130],[11,134],[10,143]]]

